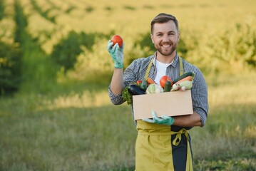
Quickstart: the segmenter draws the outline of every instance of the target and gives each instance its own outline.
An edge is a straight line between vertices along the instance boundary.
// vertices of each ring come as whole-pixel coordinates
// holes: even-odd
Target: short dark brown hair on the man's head
[[[156,23],[166,23],[168,21],[172,20],[177,28],[177,30],[179,31],[179,24],[178,24],[178,20],[176,19],[175,16],[171,15],[171,14],[165,14],[165,13],[160,13],[157,16],[155,16],[155,18],[151,21],[151,33],[153,33],[153,27],[154,24]]]

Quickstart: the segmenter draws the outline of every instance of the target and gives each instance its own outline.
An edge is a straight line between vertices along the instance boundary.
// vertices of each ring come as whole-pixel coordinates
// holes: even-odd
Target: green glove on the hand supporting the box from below
[[[162,115],[161,118],[158,118],[155,114],[155,111],[152,111],[152,117],[153,119],[142,119],[143,121],[147,122],[147,123],[157,123],[157,124],[162,124],[162,125],[173,125],[174,123],[174,118],[171,116],[167,116],[167,115]]]

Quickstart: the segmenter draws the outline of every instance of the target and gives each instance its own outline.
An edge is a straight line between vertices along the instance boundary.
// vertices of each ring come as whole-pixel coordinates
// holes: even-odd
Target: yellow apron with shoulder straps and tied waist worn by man
[[[150,71],[151,59],[145,79],[148,78]],[[180,75],[183,74],[182,59],[180,61]],[[188,130],[185,128],[174,132],[170,126],[159,125],[154,123],[146,123],[143,120],[137,121],[138,136],[135,145],[135,170],[136,171],[173,171],[173,150],[172,144],[178,146],[181,140],[181,135],[184,134],[187,138],[187,157],[185,171],[193,170],[192,155],[190,150],[190,142]],[[176,135],[171,142],[171,135]],[[178,170],[182,171],[182,170]]]

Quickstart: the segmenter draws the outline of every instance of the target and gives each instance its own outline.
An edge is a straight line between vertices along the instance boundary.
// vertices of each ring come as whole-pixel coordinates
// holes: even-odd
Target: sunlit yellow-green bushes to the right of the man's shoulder
[[[188,60],[205,73],[245,71],[256,68],[256,22],[254,17],[193,41]],[[232,29],[231,29],[232,28]],[[210,38],[210,39],[209,39]]]

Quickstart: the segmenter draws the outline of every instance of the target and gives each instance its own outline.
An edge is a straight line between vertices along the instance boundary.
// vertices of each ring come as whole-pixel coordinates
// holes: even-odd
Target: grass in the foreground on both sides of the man
[[[208,121],[190,131],[195,170],[256,167],[254,98],[241,99],[255,88],[235,93],[240,104],[225,104],[232,100],[223,90],[226,85],[210,86]],[[223,105],[215,102],[213,93],[218,91],[226,96],[219,100]],[[111,105],[107,90],[80,96],[68,92],[0,99],[0,170],[134,169],[136,130],[130,107]]]

